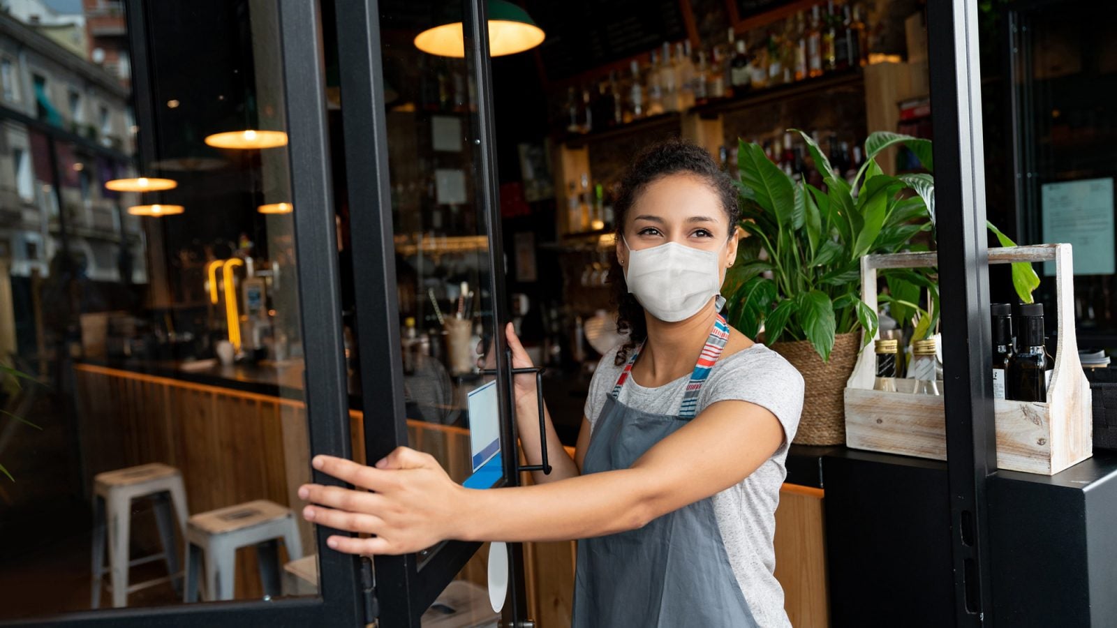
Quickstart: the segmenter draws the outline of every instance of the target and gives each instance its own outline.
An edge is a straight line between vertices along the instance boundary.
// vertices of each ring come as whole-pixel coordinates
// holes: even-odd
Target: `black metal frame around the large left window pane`
[[[133,97],[143,162],[154,160],[154,106],[144,0],[125,0],[132,45]],[[326,132],[325,70],[317,1],[279,0],[284,89],[292,172],[295,246],[303,344],[305,403],[311,454],[352,457],[345,354],[330,146]],[[341,484],[314,472],[319,484]],[[78,611],[55,617],[2,621],[0,626],[176,628],[197,626],[364,626],[369,622],[361,586],[361,561],[326,546],[340,532],[316,526],[316,597],[269,601],[238,600],[165,607]]]

